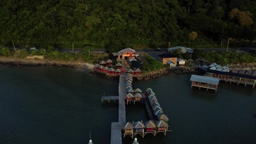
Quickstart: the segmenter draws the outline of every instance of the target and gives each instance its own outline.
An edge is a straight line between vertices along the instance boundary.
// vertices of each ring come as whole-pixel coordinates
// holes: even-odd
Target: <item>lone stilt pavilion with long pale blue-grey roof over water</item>
[[[218,84],[219,84],[219,79],[213,78],[213,77],[206,77],[206,76],[198,76],[192,74],[190,77],[191,83],[191,88],[192,86],[197,86],[200,88],[206,88],[207,91],[208,89],[214,89],[217,91]]]

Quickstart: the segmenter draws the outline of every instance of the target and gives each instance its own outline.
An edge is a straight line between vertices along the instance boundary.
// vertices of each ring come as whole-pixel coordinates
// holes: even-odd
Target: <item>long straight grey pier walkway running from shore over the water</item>
[[[111,123],[111,144],[121,144],[122,143],[122,134],[121,130],[124,127],[126,122],[126,85],[125,85],[125,75],[121,75],[119,79],[118,86],[118,122]]]

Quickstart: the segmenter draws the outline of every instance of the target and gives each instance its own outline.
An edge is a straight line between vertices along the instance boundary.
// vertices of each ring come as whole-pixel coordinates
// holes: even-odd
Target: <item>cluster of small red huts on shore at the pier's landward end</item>
[[[117,76],[119,76],[124,72],[130,73],[130,74],[136,74],[136,75],[141,74],[141,70],[139,70],[139,68],[137,68],[136,70],[129,69],[127,71],[126,69],[123,68],[123,65],[120,62],[115,64],[115,69],[112,67],[114,67],[113,61],[111,59],[108,59],[108,61],[106,62],[100,61],[99,64],[94,65],[94,71],[113,74]]]

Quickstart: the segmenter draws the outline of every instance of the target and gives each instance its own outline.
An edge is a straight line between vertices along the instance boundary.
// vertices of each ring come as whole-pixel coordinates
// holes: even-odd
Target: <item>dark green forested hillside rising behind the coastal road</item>
[[[255,0],[0,0],[0,44],[44,49],[256,41]]]

